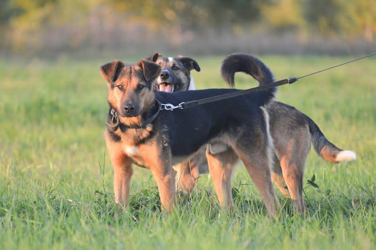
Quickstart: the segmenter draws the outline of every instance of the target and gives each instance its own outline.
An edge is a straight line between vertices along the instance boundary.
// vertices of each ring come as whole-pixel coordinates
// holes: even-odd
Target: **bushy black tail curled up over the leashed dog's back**
[[[271,70],[261,60],[249,54],[231,54],[223,60],[221,76],[230,87],[235,87],[234,76],[236,72],[244,72],[251,75],[259,82],[260,86],[275,81]],[[264,101],[261,105],[273,99],[276,92],[277,87],[258,92],[258,95]]]

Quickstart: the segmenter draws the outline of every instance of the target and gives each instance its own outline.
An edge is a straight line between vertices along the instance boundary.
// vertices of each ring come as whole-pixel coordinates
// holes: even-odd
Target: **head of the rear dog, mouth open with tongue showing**
[[[159,53],[147,58],[161,66],[161,74],[155,81],[156,89],[164,92],[188,90],[191,70],[200,71],[199,64],[190,57],[163,57]]]

